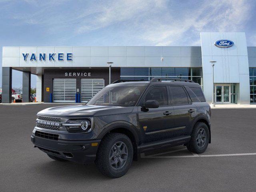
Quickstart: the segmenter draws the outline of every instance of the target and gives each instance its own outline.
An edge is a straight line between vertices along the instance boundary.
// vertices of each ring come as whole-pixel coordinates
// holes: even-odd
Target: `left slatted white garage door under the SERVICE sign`
[[[76,102],[76,79],[53,79],[53,102]]]

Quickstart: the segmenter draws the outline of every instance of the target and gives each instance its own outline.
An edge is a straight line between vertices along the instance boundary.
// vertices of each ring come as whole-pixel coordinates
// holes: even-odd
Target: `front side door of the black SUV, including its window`
[[[142,104],[147,100],[157,100],[158,108],[138,107],[143,142],[153,142],[171,137],[171,129],[174,127],[174,109],[170,106],[167,88],[166,86],[152,86],[142,100]]]

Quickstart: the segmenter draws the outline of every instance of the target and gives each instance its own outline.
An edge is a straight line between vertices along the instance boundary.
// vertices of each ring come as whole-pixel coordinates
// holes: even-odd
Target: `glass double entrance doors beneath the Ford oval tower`
[[[216,104],[230,104],[230,85],[216,84],[214,88]]]

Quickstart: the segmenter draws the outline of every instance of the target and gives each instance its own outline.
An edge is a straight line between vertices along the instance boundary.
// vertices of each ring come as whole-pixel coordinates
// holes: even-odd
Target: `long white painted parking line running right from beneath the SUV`
[[[244,155],[256,155],[256,153],[235,153],[235,154],[216,154],[216,155],[182,155],[182,156],[143,156],[142,158],[186,158],[186,157],[223,157],[223,156],[244,156]]]

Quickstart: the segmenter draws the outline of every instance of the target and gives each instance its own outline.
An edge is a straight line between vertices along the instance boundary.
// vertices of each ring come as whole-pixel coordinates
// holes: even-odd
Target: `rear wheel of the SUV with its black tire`
[[[202,134],[201,134],[201,137],[199,134],[199,137],[197,139],[198,133],[201,132],[201,130],[204,131],[205,133],[204,135],[206,136],[204,143],[203,143],[204,136],[202,136]],[[194,125],[194,128],[192,130],[190,142],[186,145],[186,147],[191,152],[198,153],[198,154],[203,153],[208,147],[209,139],[210,139],[210,134],[209,134],[208,126],[203,122],[197,122]]]

